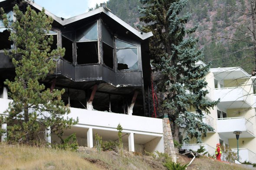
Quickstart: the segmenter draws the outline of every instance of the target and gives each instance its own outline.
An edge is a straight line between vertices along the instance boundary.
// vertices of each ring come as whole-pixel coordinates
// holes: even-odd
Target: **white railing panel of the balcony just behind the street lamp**
[[[244,117],[230,117],[230,118],[218,118],[217,121],[218,129],[222,129],[223,132],[233,132],[234,128],[233,125],[236,125],[236,130],[240,129],[241,131],[248,131],[254,135],[253,131],[253,123],[249,120],[245,119]],[[221,130],[218,132],[222,132]]]

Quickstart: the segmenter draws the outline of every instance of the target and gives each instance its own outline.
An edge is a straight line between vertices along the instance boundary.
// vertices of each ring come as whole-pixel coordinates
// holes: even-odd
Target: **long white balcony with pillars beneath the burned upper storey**
[[[3,115],[10,102],[12,100],[0,98],[0,115]],[[78,118],[79,122],[71,129],[64,130],[64,137],[75,132],[80,146],[92,148],[96,133],[102,136],[103,141],[116,141],[116,128],[120,124],[124,147],[129,148],[129,151],[140,150],[143,146],[146,151],[164,152],[162,119],[78,108],[70,108],[68,117]],[[58,140],[54,135],[52,139]]]

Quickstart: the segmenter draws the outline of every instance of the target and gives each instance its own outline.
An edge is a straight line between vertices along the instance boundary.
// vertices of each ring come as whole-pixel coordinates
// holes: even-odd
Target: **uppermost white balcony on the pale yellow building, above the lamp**
[[[228,87],[214,90],[214,99],[220,98],[219,105],[226,109],[250,108],[252,106],[251,95],[248,95],[242,87]]]

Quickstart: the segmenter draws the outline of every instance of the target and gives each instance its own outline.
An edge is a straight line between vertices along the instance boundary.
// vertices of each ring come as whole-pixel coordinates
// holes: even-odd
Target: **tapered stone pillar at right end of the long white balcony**
[[[176,163],[177,157],[174,148],[174,142],[171,134],[171,125],[169,118],[163,119],[163,132],[164,132],[164,153],[171,156],[172,161]]]

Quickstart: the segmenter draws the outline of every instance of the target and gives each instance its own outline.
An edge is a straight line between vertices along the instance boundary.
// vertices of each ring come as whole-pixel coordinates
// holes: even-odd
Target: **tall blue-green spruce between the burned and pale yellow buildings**
[[[180,127],[184,127],[183,141],[196,138],[201,143],[207,131],[213,128],[202,122],[203,112],[209,113],[210,108],[218,101],[205,99],[207,82],[204,77],[210,64],[197,66],[203,58],[202,50],[197,50],[198,38],[191,35],[197,27],[186,29],[190,18],[187,13],[180,15],[187,0],[140,0],[145,7],[140,9],[144,14],[141,21],[148,24],[143,31],[152,31],[151,57],[153,65],[160,72],[157,81],[158,91],[165,94],[161,107],[172,124],[174,139],[179,141]],[[190,112],[195,109],[196,113]]]

